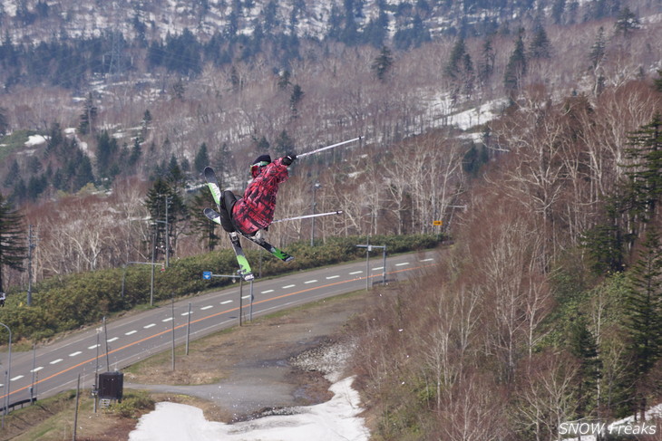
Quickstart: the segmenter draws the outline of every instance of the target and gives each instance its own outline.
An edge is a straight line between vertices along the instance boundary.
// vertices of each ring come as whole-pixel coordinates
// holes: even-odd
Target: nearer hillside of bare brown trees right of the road
[[[552,440],[662,401],[661,86],[491,124],[507,153],[464,195],[443,268],[357,323],[375,439]]]

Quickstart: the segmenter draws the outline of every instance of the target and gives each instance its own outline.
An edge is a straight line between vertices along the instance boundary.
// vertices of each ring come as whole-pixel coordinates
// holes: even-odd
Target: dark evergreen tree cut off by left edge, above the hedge
[[[23,271],[25,259],[24,218],[0,194],[0,292],[5,292],[5,267]]]

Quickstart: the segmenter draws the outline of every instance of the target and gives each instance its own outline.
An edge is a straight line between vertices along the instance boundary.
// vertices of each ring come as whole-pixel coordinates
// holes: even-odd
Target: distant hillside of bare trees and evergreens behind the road
[[[290,28],[303,33],[295,56],[283,57],[277,49],[283,46],[268,38],[258,53],[219,63],[212,54],[247,43],[226,35],[229,41],[205,49],[213,33],[184,26],[177,34],[175,26],[161,37],[156,31],[165,22],[156,21],[149,38],[122,34],[122,60],[132,62],[122,71],[102,67],[109,54],[117,55],[111,50],[117,36],[106,31],[112,23],[126,23],[119,14],[131,8],[115,7],[115,22],[95,27],[80,19],[86,16],[81,5],[64,15],[70,20],[61,29],[69,31],[46,35],[45,24],[53,28],[63,15],[44,4],[23,2],[27,9],[14,12],[5,5],[7,33],[0,51],[5,67],[0,182],[5,197],[22,207],[25,224],[34,225],[34,281],[144,261],[151,244],[157,260],[164,258],[166,242],[174,258],[211,249],[219,238],[200,218],[207,198],[195,191],[204,165],[217,168],[224,186],[240,191],[248,178],[246,165],[261,152],[301,152],[357,135],[365,137],[360,146],[297,164],[282,190],[277,217],[310,212],[316,193],[316,209],[346,213],[317,222],[319,240],[431,232],[433,220],[443,220],[448,229],[466,205],[462,195],[481,165],[510,149],[502,145],[510,134],[496,136],[485,121],[518,108],[528,114],[532,106],[572,94],[594,101],[603,91],[621,91],[628,81],[656,77],[660,59],[659,11],[647,2],[631,9],[560,2],[553,11],[478,5],[483,18],[495,24],[490,29],[469,26],[478,12],[461,14],[442,4],[428,2],[432,10],[423,14],[425,2],[393,11],[390,3],[365,2],[364,19],[356,15],[342,23],[360,24],[356,33],[365,36],[367,17],[385,9],[389,33],[379,47],[342,42],[327,27],[321,36],[303,38],[301,24]],[[250,14],[267,14],[272,4],[251,3]],[[240,16],[252,16],[248,4],[232,5],[241,7]],[[603,9],[595,9],[599,5]],[[335,7],[358,14],[352,2]],[[48,14],[38,13],[46,9]],[[28,20],[25,11],[36,15]],[[180,14],[168,11],[163,9],[170,17],[166,21],[177,21]],[[394,33],[406,11],[426,17],[425,28],[436,36],[402,51]],[[449,14],[445,21],[443,12]],[[131,23],[136,17],[141,14],[132,14]],[[460,32],[462,17],[467,24]],[[219,32],[225,25],[219,24]],[[278,32],[287,34],[287,26]],[[26,43],[25,34],[34,43]],[[252,31],[244,34],[255,37]],[[161,49],[154,52],[157,45]],[[34,57],[34,51],[43,53]],[[162,62],[154,62],[154,53]],[[196,72],[181,72],[176,65],[193,60],[200,62]],[[76,72],[80,80],[68,83]],[[615,136],[646,118],[616,117]],[[164,222],[151,227],[165,216],[165,197],[174,204],[168,240]],[[284,245],[311,236],[310,225],[278,225],[273,235]],[[26,276],[9,273],[7,280],[24,285]]]

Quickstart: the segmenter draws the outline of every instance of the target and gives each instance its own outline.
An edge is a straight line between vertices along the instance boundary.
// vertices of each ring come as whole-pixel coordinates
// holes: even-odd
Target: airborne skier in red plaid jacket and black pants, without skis
[[[220,225],[228,233],[239,231],[243,235],[258,235],[267,230],[274,220],[278,187],[288,177],[287,167],[297,155],[291,153],[271,161],[269,155],[260,155],[250,166],[253,180],[248,184],[244,197],[237,197],[230,190],[220,197]]]

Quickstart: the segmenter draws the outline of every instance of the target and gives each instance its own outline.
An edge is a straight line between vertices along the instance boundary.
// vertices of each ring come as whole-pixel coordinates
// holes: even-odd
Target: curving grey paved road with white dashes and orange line
[[[386,260],[387,282],[421,273],[438,259],[435,251],[389,257]],[[187,334],[190,340],[194,340],[239,324],[239,312],[247,319],[251,309],[256,317],[365,289],[366,284],[381,283],[384,273],[382,256],[371,255],[369,264],[369,273],[364,261],[258,280],[253,283],[252,306],[250,284],[243,283],[240,290],[239,283],[234,283],[232,288],[223,291],[174,302],[174,308],[165,303],[146,312],[110,321],[105,328],[100,324],[36,350],[14,352],[9,406],[31,396],[47,398],[75,388],[79,375],[81,387],[92,388],[95,373],[123,369],[153,354],[171,350],[173,329],[175,344],[180,345],[185,343]],[[0,384],[3,394],[0,407],[4,407],[7,390],[6,359],[6,354],[0,354],[5,370],[5,378]]]

